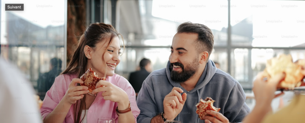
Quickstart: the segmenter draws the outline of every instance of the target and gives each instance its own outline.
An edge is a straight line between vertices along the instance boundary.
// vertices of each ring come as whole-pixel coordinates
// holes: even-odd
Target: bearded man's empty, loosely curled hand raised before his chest
[[[168,121],[174,120],[177,115],[181,112],[185,100],[186,93],[182,93],[183,90],[178,87],[174,87],[173,90],[167,94],[163,100],[163,108],[164,108],[164,118],[167,118]]]

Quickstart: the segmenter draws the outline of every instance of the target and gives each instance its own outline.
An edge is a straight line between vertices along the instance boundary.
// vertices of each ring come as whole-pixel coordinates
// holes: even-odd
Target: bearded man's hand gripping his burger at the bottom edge
[[[212,115],[212,117],[207,115],[204,116],[203,119],[205,119],[204,120],[205,123],[229,123],[228,118],[224,117],[224,115],[222,115],[219,112],[213,110],[206,110],[206,113]]]

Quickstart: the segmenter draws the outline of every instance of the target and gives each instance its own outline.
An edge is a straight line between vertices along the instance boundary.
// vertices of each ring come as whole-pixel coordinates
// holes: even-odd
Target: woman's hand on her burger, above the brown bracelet
[[[104,80],[100,80],[96,86],[95,90],[92,91],[93,94],[102,92],[104,100],[110,100],[118,103],[119,110],[125,110],[129,107],[129,99],[127,93],[119,88]]]

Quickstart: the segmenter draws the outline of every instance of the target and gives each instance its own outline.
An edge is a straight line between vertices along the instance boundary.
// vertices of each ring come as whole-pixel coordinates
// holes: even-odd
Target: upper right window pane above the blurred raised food
[[[304,45],[304,1],[231,0],[231,44],[252,47]]]

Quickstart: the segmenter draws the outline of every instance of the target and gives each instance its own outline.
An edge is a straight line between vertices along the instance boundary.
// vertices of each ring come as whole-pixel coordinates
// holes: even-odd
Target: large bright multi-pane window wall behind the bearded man
[[[280,53],[291,54],[294,60],[305,57],[305,25],[302,23],[305,16],[301,16],[305,12],[304,3],[289,0],[118,0],[116,29],[128,48],[121,57],[124,65],[117,72],[128,76],[144,57],[160,58],[164,62],[154,62],[154,66],[165,68],[169,54],[144,55],[144,51],[170,49],[178,25],[190,21],[212,30],[214,49],[210,59],[220,63],[220,69],[238,80],[247,92],[251,91],[252,82],[257,73],[265,69],[267,59]],[[160,68],[153,68],[156,69]]]

